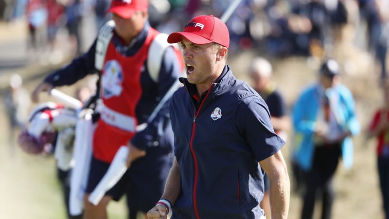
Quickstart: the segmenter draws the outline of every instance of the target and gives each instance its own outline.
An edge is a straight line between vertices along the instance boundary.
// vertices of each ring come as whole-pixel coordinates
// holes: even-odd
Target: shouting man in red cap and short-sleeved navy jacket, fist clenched
[[[148,218],[264,219],[264,172],[273,219],[286,219],[289,177],[265,101],[226,65],[227,26],[213,16],[193,18],[181,43],[187,78],[171,101],[175,163]],[[152,179],[151,179],[152,180]]]

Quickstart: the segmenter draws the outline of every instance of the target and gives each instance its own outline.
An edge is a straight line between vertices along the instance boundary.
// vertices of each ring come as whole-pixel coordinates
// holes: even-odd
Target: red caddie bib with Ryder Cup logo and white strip
[[[109,42],[101,75],[104,103],[93,137],[93,155],[111,163],[120,146],[127,145],[136,134],[136,107],[141,98],[141,70],[150,44],[158,32],[150,28],[141,49],[124,56]]]

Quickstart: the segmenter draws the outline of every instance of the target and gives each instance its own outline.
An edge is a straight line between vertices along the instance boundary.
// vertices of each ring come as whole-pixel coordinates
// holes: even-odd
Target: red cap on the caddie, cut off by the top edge
[[[138,11],[147,11],[147,0],[112,0],[106,13],[115,13],[122,18],[131,18]]]

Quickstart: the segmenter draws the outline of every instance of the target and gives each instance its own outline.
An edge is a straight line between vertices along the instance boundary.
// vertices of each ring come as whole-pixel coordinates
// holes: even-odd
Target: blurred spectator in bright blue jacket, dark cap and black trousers
[[[302,91],[292,109],[293,159],[303,170],[305,194],[301,219],[312,219],[316,196],[322,196],[321,219],[330,219],[334,202],[332,185],[339,158],[353,163],[351,136],[360,131],[352,93],[340,82],[334,59],[322,63],[318,83]]]

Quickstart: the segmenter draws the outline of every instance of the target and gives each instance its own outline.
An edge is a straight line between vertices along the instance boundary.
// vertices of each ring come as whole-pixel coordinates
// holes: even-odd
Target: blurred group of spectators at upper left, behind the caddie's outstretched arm
[[[105,15],[109,0],[1,0],[0,19],[5,22],[23,21],[27,25],[29,37],[27,49],[38,54],[52,55],[63,47],[58,37],[65,32],[71,55],[80,55],[82,45],[82,22],[94,16],[97,30],[108,17]]]

